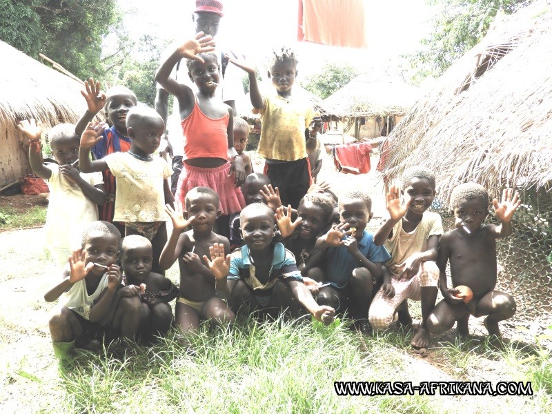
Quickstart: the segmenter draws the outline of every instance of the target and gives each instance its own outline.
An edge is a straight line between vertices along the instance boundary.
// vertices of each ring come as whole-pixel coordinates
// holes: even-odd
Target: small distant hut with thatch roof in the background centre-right
[[[343,130],[356,139],[387,135],[420,97],[420,89],[402,81],[360,75],[324,99],[342,118]]]

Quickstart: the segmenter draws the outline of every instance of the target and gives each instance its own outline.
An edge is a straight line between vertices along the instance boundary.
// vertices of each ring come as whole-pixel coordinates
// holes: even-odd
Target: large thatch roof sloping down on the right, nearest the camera
[[[552,180],[552,12],[497,25],[420,99],[386,141],[380,170],[435,171],[444,197],[465,181],[495,193]]]

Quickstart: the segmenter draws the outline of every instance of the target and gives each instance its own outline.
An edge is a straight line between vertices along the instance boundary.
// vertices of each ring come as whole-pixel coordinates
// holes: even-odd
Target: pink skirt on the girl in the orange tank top
[[[215,168],[189,166],[184,162],[178,179],[176,201],[182,210],[186,210],[186,194],[195,187],[213,188],[219,195],[220,210],[223,215],[239,213],[246,206],[244,195],[235,186],[235,177],[230,175],[230,163]]]

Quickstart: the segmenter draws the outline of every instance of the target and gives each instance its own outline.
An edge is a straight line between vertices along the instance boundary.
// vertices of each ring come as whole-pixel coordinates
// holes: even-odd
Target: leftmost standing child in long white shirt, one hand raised
[[[65,266],[72,251],[79,246],[78,237],[83,227],[98,219],[98,205],[101,206],[106,199],[101,174],[85,174],[73,165],[79,159],[79,137],[75,135],[74,125],[59,124],[48,132],[57,164],[44,164],[42,160],[40,124],[30,119],[19,122],[18,128],[30,142],[32,171],[48,180],[46,246],[55,262]]]

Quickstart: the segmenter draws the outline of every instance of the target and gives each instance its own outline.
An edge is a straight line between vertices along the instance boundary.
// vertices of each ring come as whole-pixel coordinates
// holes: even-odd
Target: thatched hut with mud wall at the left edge
[[[34,118],[50,128],[76,122],[86,110],[81,84],[0,41],[0,186],[30,172],[17,123]]]

